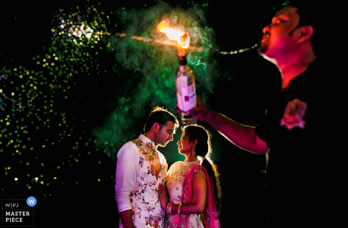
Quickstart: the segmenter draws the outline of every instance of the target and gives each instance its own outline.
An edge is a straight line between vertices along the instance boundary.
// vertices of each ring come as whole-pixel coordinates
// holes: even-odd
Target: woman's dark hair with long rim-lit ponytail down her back
[[[204,127],[193,124],[181,127],[181,131],[185,132],[185,135],[189,136],[189,141],[192,142],[197,140],[196,144],[196,154],[198,158],[202,159],[201,165],[207,170],[208,174],[213,179],[214,184],[214,194],[217,206],[221,203],[221,187],[219,181],[219,173],[217,171],[216,165],[210,159],[211,143],[210,143],[210,133]]]

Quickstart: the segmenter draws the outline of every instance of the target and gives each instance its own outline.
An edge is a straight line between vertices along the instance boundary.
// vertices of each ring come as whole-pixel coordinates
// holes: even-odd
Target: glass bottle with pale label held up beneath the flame
[[[197,122],[197,114],[188,115],[186,112],[196,107],[196,86],[191,68],[187,65],[186,50],[178,48],[179,67],[175,71],[175,87],[180,122],[194,124]]]

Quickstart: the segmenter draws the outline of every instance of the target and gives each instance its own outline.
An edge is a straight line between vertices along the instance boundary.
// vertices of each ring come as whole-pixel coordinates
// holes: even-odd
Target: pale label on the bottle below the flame
[[[181,87],[181,95],[176,93],[177,106],[181,111],[187,112],[188,110],[196,107],[196,89],[194,84]]]

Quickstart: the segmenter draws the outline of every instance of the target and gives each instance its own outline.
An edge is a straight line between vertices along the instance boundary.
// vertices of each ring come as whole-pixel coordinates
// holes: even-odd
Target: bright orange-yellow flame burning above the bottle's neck
[[[190,36],[188,33],[179,29],[170,28],[170,20],[166,19],[157,25],[157,31],[165,33],[170,40],[175,40],[181,48],[188,48],[190,46]]]

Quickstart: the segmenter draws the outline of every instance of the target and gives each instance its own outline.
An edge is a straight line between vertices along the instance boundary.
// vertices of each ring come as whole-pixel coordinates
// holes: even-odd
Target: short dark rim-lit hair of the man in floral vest
[[[144,132],[150,131],[151,127],[155,123],[158,123],[160,125],[161,131],[162,127],[166,125],[167,121],[173,121],[175,124],[175,129],[179,127],[179,122],[172,113],[170,113],[167,109],[156,106],[152,109],[149,118],[146,121],[146,124],[144,126]]]

